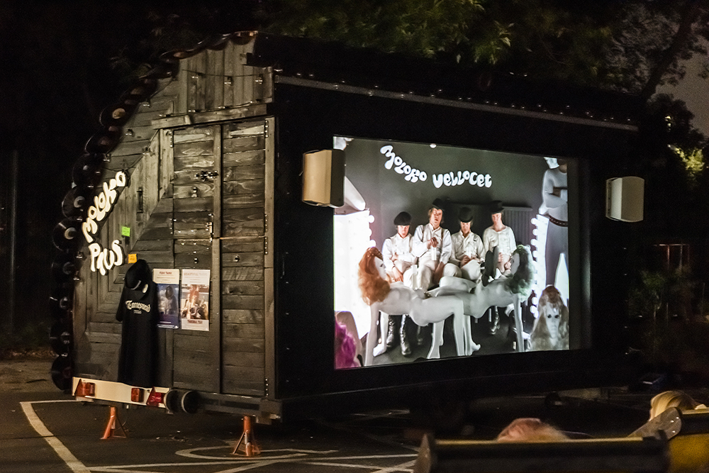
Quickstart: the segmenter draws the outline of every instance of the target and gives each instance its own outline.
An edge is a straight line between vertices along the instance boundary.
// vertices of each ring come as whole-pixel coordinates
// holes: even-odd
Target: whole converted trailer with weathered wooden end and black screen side
[[[254,32],[162,60],[104,110],[74,167],[55,230],[62,389],[267,422],[627,381],[632,223],[606,218],[606,182],[633,157],[634,98]],[[559,163],[565,184],[548,194],[566,220],[544,196]],[[425,231],[432,202],[450,234],[466,208],[481,237],[495,205],[531,250],[534,276],[521,307],[498,309],[501,330],[488,331],[492,311],[466,314],[472,354],[445,318],[438,338],[428,323],[404,328],[411,355],[386,349],[385,319],[379,340],[358,286],[367,248],[397,233],[402,211],[411,235]],[[152,289],[126,276],[140,261]],[[558,350],[532,343],[547,286],[568,309]],[[126,291],[150,290],[157,318],[127,328],[126,311],[155,307]],[[347,366],[335,362],[342,326],[359,355]]]

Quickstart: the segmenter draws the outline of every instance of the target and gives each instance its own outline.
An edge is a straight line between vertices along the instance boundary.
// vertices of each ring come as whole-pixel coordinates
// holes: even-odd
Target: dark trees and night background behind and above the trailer
[[[48,235],[101,108],[166,50],[267,29],[647,95],[682,77],[681,60],[705,54],[700,40],[709,38],[708,25],[709,0],[2,1],[0,151],[6,157],[17,150],[21,162],[18,311],[46,313],[45,268],[55,255]],[[680,111],[658,106],[667,107],[658,113],[671,113],[673,133],[681,135]],[[663,150],[686,141],[663,136]],[[676,161],[657,148],[652,153],[660,174]],[[8,166],[0,161],[0,172]],[[706,189],[703,179],[696,188]]]

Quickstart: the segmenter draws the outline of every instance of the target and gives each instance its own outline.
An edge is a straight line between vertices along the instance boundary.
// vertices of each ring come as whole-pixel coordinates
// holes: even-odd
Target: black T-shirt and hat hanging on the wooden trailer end
[[[123,282],[116,312],[116,320],[123,322],[118,382],[150,388],[157,366],[157,284],[145,260],[133,263]]]

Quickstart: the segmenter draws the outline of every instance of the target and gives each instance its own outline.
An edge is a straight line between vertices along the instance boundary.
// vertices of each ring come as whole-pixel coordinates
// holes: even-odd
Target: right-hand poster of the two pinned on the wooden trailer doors
[[[209,330],[209,269],[182,269],[180,326]]]

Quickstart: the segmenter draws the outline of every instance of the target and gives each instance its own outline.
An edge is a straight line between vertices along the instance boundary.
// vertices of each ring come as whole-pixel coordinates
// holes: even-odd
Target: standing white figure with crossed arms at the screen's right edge
[[[547,286],[568,285],[569,280],[569,205],[567,189],[568,162],[566,160],[547,157],[549,169],[544,173],[542,183],[542,206],[539,213],[549,218],[547,226],[547,243],[545,259],[547,269]],[[561,255],[564,255],[566,281],[557,282],[557,269],[561,265]],[[564,291],[562,291],[563,293]],[[568,300],[569,294],[562,294]]]

